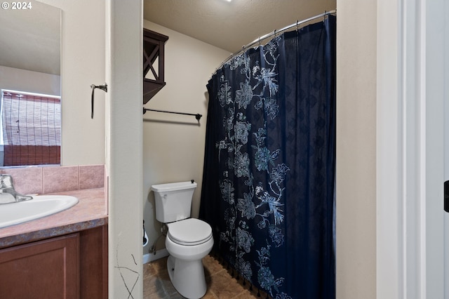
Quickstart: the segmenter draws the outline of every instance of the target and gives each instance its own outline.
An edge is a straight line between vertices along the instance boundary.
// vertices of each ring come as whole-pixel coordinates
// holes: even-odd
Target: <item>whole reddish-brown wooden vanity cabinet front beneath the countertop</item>
[[[107,225],[1,249],[0,298],[107,298]]]

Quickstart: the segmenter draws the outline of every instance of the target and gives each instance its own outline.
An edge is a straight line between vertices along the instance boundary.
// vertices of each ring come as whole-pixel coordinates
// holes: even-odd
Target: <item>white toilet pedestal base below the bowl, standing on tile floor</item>
[[[168,276],[176,291],[185,298],[197,299],[206,294],[203,260],[180,260],[172,255],[167,260]]]

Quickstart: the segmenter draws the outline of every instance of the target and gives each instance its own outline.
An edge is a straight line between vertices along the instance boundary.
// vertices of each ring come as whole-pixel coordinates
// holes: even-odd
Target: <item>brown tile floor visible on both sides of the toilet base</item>
[[[250,285],[246,282],[243,285],[242,279],[238,281],[232,277],[232,270],[227,270],[212,255],[203,258],[204,273],[208,291],[203,296],[204,299],[265,299],[267,293],[260,291],[260,297],[257,296],[257,288],[253,287],[250,291]],[[144,299],[182,299],[182,295],[177,293],[168,278],[167,258],[154,260],[143,265],[143,298]]]

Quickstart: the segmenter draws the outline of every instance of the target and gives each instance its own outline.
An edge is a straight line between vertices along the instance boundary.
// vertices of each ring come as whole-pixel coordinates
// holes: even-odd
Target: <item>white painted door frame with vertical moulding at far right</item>
[[[377,1],[377,298],[444,298],[444,11]]]

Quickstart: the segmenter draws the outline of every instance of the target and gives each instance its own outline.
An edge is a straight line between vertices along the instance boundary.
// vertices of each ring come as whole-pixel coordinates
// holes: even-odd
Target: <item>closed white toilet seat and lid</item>
[[[167,237],[176,244],[194,246],[212,238],[212,227],[207,222],[196,218],[171,222],[167,226]]]

